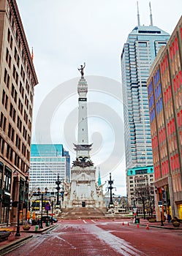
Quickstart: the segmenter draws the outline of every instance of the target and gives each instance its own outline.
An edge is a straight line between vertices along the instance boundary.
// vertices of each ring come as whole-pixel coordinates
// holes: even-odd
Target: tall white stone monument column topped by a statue
[[[71,168],[71,187],[68,207],[105,207],[103,193],[96,185],[96,167],[91,162],[91,145],[88,144],[87,92],[88,85],[83,69],[78,69],[81,78],[77,85],[78,93],[78,129],[77,144],[74,144],[76,159]]]

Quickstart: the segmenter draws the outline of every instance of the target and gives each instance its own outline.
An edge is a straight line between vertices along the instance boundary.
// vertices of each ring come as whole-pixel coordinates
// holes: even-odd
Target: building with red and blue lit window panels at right
[[[156,213],[182,218],[182,17],[148,78]]]

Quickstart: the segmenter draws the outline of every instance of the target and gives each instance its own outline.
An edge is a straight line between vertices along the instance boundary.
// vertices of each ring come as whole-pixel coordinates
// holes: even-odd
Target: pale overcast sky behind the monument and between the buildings
[[[137,26],[137,1],[17,2],[39,80],[32,143],[63,143],[74,160],[77,67],[86,62],[93,162],[100,167],[102,183],[112,172],[116,193],[126,195],[120,56],[129,32]],[[140,24],[148,26],[149,1],[138,3]],[[171,34],[181,18],[182,1],[151,0],[151,10],[153,26]]]

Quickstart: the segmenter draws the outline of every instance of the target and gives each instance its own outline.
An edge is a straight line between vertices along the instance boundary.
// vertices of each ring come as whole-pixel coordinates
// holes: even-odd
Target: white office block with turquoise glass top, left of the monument
[[[29,191],[37,189],[56,192],[58,176],[62,181],[70,179],[70,157],[62,144],[31,144],[31,169]]]

